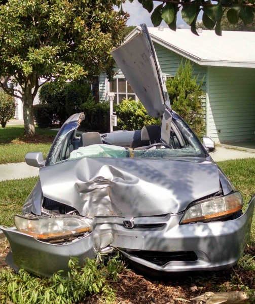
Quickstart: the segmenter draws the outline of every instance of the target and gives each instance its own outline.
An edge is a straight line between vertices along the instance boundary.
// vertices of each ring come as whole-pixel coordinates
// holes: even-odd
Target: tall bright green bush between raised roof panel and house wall
[[[205,131],[204,109],[202,106],[202,82],[192,76],[192,65],[187,61],[180,64],[173,79],[166,83],[172,109],[175,110],[193,129],[198,137]]]

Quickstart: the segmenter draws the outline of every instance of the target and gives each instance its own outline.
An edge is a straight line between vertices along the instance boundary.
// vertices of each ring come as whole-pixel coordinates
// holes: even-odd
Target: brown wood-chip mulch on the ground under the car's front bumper
[[[5,257],[9,251],[6,238],[0,239],[0,269],[6,267]],[[255,247],[247,247],[246,253],[254,254]],[[128,265],[129,267],[129,265]],[[118,282],[112,282],[112,288],[117,292],[117,299],[113,304],[187,304],[192,297],[207,291],[232,291],[231,277],[236,276],[236,289],[246,285],[255,289],[254,273],[244,270],[228,270],[221,272],[195,272],[172,274],[168,278],[146,278],[137,271],[124,270],[119,275]],[[221,290],[219,286],[222,286]],[[98,295],[88,296],[81,304],[101,303]],[[204,303],[202,301],[196,303]]]

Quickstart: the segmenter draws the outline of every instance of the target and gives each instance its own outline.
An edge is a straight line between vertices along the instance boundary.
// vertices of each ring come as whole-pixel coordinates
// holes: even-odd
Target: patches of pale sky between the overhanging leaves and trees
[[[127,25],[140,25],[141,23],[145,23],[149,27],[153,26],[151,14],[148,13],[148,11],[145,10],[137,0],[134,0],[132,3],[127,0],[126,3],[123,4],[123,10],[128,12],[130,15]],[[160,26],[168,27],[164,21],[162,21]],[[181,18],[180,13],[177,15],[177,27],[189,28],[189,26]]]

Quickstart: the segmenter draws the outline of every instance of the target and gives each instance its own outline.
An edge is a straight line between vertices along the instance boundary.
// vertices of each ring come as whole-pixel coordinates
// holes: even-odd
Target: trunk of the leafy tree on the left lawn
[[[24,126],[25,135],[34,135],[34,121],[33,121],[33,96],[32,88],[28,86],[23,93],[23,116],[24,116]]]

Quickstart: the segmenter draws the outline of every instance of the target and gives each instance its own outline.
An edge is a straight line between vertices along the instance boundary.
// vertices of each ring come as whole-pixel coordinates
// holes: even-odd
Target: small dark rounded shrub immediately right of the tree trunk
[[[33,106],[35,123],[39,128],[48,128],[53,124],[53,111],[49,104],[36,104]]]

